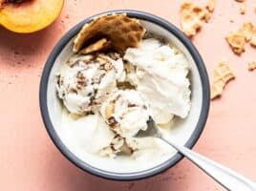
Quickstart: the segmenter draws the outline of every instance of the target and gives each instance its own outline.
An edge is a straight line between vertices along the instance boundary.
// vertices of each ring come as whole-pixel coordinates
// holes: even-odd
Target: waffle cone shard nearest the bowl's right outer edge
[[[222,96],[224,86],[233,78],[235,78],[235,75],[229,66],[224,61],[220,62],[214,69],[213,83],[211,85],[211,99]]]

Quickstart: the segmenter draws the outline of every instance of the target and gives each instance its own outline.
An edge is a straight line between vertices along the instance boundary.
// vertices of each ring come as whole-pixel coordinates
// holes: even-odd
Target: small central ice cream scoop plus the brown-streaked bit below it
[[[100,114],[116,135],[101,153],[111,155],[127,150],[133,152],[137,149],[129,138],[135,137],[140,130],[145,131],[150,118],[147,103],[139,92],[117,91],[102,104]]]

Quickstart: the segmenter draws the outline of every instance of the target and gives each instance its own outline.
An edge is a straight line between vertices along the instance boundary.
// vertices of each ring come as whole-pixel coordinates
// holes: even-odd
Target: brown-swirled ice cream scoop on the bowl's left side
[[[117,80],[124,78],[120,58],[108,55],[72,56],[57,75],[58,96],[65,107],[75,114],[94,112],[117,89]]]

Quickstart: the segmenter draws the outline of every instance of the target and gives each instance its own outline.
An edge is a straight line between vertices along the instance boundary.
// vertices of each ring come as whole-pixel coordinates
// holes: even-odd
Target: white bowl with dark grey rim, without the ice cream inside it
[[[191,111],[185,119],[176,122],[168,138],[191,148],[200,137],[209,109],[209,82],[201,55],[191,41],[174,25],[162,18],[141,11],[108,11],[101,14],[126,12],[128,16],[138,18],[147,29],[163,36],[178,48],[191,65]],[[98,15],[85,19],[67,32],[57,43],[49,56],[40,84],[40,108],[46,129],[60,152],[79,168],[96,176],[113,180],[138,180],[156,175],[175,165],[182,159],[181,154],[170,148],[170,154],[159,161],[143,161],[137,167],[132,164],[116,162],[113,159],[95,159],[94,156],[79,152],[71,145],[61,131],[62,106],[56,96],[54,75],[72,53],[73,41],[77,32],[85,23]],[[86,127],[85,127],[86,131]],[[115,166],[115,168],[113,168]],[[139,166],[139,167],[138,167]],[[115,169],[115,170],[114,170]]]

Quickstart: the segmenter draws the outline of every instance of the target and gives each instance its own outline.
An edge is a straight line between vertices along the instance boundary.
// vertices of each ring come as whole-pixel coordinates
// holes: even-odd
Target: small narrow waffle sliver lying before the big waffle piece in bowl
[[[79,53],[87,54],[87,53],[95,53],[98,51],[107,50],[111,46],[111,41],[107,40],[106,38],[102,38],[95,43],[91,44],[90,46],[82,49]]]

